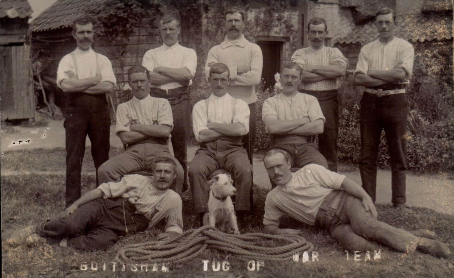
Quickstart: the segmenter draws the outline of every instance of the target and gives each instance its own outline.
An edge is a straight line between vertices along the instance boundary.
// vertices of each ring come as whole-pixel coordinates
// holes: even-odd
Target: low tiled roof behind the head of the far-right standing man
[[[453,18],[440,14],[409,14],[396,19],[395,36],[411,42],[441,41],[453,38]],[[365,45],[378,37],[374,21],[359,25],[336,43],[361,43]]]

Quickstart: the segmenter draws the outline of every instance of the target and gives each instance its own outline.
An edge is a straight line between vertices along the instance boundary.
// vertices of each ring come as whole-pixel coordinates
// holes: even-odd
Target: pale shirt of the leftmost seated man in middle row
[[[131,121],[141,125],[168,125],[173,128],[172,108],[168,100],[146,96],[139,100],[135,96],[129,101],[120,103],[117,107],[117,123],[115,134],[121,131],[131,131]]]

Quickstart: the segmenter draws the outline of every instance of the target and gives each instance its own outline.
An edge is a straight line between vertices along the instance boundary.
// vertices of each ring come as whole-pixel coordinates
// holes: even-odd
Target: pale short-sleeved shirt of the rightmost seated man
[[[308,117],[311,122],[318,119],[325,122],[325,116],[321,112],[316,97],[304,93],[297,93],[292,97],[281,93],[266,99],[262,107],[262,120],[270,115],[276,116],[277,120],[296,120]]]

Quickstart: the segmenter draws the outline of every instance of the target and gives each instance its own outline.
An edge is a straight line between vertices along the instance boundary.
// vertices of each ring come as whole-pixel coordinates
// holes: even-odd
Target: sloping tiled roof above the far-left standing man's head
[[[69,27],[75,19],[99,7],[104,1],[106,0],[58,0],[32,21],[30,29],[39,32]]]

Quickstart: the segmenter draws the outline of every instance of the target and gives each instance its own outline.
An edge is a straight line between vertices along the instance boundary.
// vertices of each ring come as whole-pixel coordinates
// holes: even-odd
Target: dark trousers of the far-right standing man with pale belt
[[[360,173],[362,187],[375,202],[377,183],[377,156],[380,134],[385,130],[386,143],[391,157],[392,203],[405,203],[405,148],[408,101],[406,94],[376,96],[364,92],[361,99]]]

